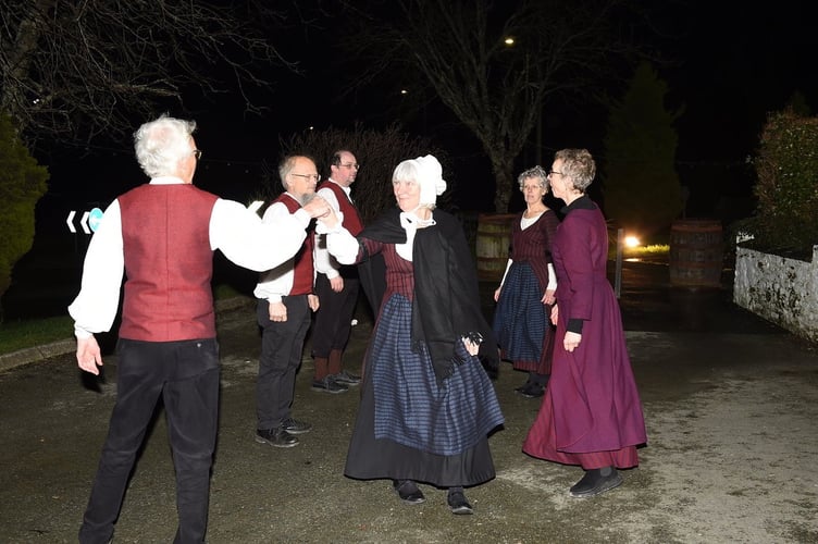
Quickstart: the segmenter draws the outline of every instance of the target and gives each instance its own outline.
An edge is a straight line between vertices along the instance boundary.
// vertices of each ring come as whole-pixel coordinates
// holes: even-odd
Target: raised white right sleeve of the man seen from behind
[[[274,214],[269,220],[264,213],[262,222],[258,213],[239,202],[220,198],[210,217],[210,247],[239,267],[263,272],[296,255],[309,224],[310,215],[303,210]]]

